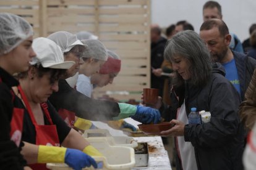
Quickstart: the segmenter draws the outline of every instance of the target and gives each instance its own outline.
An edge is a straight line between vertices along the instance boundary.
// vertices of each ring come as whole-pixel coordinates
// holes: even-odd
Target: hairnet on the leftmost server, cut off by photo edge
[[[0,55],[12,51],[32,35],[32,26],[22,17],[0,13]]]

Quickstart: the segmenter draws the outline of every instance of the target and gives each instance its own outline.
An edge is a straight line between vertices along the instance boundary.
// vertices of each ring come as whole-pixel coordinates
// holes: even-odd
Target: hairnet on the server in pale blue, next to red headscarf
[[[97,39],[83,39],[82,42],[88,46],[87,49],[85,49],[83,52],[83,57],[103,61],[108,59],[106,47]]]

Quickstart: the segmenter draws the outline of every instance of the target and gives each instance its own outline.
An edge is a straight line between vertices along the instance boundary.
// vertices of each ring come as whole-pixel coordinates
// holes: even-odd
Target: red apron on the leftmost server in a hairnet
[[[2,78],[0,78],[0,83],[2,83]],[[11,90],[12,102],[14,102],[15,94]],[[11,131],[10,137],[11,140],[19,147],[20,141],[22,139],[22,128],[23,128],[23,116],[24,110],[22,108],[13,108],[12,110],[12,120],[11,120]]]

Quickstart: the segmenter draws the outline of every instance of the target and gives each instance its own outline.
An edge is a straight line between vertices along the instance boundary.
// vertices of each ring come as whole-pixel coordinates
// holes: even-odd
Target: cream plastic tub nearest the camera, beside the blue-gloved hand
[[[98,163],[97,169],[124,169],[128,170],[135,166],[134,149],[130,147],[110,146],[106,140],[91,139],[90,144],[97,148],[103,156],[93,157]],[[67,164],[48,163],[46,167],[53,170],[72,169]],[[94,169],[93,166],[90,168]]]

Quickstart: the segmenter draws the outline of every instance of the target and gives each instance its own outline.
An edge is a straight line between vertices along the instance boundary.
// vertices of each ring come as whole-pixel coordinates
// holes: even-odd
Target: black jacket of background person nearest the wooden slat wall
[[[161,68],[164,57],[164,47],[167,39],[161,37],[158,42],[151,42],[151,67]],[[164,78],[157,77],[151,73],[151,87],[160,89],[160,96],[163,95]]]

